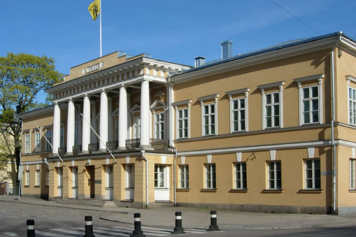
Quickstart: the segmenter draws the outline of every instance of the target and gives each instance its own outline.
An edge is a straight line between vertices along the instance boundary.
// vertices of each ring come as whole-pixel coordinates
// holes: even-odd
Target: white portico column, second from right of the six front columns
[[[127,139],[127,93],[124,85],[120,86],[119,96],[119,149],[126,149]]]

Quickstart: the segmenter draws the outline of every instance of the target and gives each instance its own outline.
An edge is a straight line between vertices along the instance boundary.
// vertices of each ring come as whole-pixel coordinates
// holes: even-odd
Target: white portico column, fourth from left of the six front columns
[[[106,95],[105,90],[100,93],[100,123],[99,123],[99,136],[101,141],[108,141],[108,96]],[[106,151],[105,145],[103,142],[99,141],[99,149],[101,151]]]

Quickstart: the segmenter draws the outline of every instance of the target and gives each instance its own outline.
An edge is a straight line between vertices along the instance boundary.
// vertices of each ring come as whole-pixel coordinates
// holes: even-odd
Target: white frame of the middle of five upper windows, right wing
[[[225,92],[226,95],[229,96],[229,104],[230,104],[230,133],[235,133],[235,132],[240,132],[240,131],[248,131],[248,92],[250,91],[250,88],[243,88],[239,90],[234,90],[234,91],[227,91]],[[232,99],[232,96],[238,95],[244,93],[245,97],[238,97]],[[241,130],[240,129],[240,123],[238,125],[239,129],[234,130],[234,101],[235,100],[240,100],[240,99],[245,99],[245,129]],[[239,101],[240,102],[240,101]],[[240,109],[238,109],[240,111]],[[239,122],[240,122],[240,112],[239,112]]]

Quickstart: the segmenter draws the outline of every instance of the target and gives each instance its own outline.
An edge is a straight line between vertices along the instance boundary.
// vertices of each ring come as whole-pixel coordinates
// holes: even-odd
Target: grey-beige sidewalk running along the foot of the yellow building
[[[16,196],[0,195],[0,201],[17,202]],[[106,212],[100,219],[133,224],[133,213],[141,213],[141,223],[145,226],[174,227],[175,211],[182,212],[184,228],[208,228],[210,225],[210,210],[195,208],[100,208],[93,206],[75,206],[58,204],[39,198],[20,197],[20,203],[32,205],[56,206],[62,208],[96,210]],[[218,225],[224,229],[290,229],[290,228],[320,228],[356,225],[356,214],[347,216],[336,215],[304,215],[304,214],[268,214],[256,212],[236,212],[217,210]]]

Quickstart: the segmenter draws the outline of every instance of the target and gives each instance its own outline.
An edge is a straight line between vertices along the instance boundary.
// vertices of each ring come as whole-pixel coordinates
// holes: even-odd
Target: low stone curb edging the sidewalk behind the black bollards
[[[124,224],[130,224],[133,225],[133,221],[119,221],[115,219],[110,219],[108,217],[99,217],[99,219],[104,220],[104,221],[112,221],[112,222],[118,222],[118,223],[124,223]],[[142,225],[142,223],[141,223]],[[292,230],[292,229],[313,229],[313,228],[333,228],[333,227],[340,227],[340,226],[351,226],[351,225],[356,225],[356,222],[350,222],[350,223],[341,223],[341,224],[326,224],[326,225],[306,225],[306,226],[283,226],[283,227],[231,227],[231,226],[224,226],[224,225],[219,225],[220,229],[225,229],[225,230]],[[153,225],[142,225],[142,226],[153,226]],[[169,227],[173,228],[174,225],[159,225],[159,227]],[[187,227],[184,226],[184,228],[196,228],[196,229],[206,229],[204,227]]]

